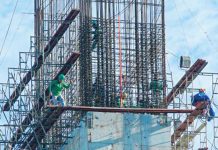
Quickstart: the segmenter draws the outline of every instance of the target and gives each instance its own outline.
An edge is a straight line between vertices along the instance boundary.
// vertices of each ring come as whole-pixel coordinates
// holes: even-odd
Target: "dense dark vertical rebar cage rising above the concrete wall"
[[[83,104],[164,107],[164,1],[79,2]]]

